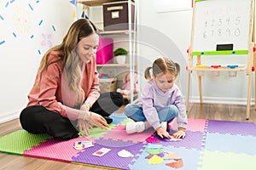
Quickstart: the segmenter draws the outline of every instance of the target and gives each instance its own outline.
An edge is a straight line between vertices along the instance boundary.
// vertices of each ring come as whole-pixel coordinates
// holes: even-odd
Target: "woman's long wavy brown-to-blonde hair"
[[[97,33],[96,26],[86,19],[79,19],[70,26],[66,36],[63,38],[61,44],[50,48],[43,56],[39,66],[39,77],[37,78],[37,85],[40,86],[42,79],[42,73],[47,70],[48,66],[58,61],[63,62],[63,72],[68,82],[68,86],[73,90],[74,94],[80,94],[82,89],[80,87],[81,82],[81,61],[79,55],[76,53],[76,47],[79,41],[90,36],[92,33]],[[49,54],[52,51],[60,51],[60,54],[55,56],[55,59],[49,60]],[[79,98],[79,95],[77,96]],[[79,99],[77,99],[78,101]]]

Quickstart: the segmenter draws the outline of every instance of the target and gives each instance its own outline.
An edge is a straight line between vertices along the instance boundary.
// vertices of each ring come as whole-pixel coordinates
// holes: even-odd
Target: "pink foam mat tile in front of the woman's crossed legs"
[[[83,140],[89,139],[85,137],[70,140],[48,139],[38,146],[33,146],[32,150],[25,150],[23,155],[71,162],[72,157],[77,156],[79,151],[81,151],[73,148],[74,143]]]

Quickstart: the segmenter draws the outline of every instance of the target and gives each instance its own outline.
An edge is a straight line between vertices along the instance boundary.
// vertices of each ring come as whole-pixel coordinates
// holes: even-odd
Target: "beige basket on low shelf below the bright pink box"
[[[101,78],[100,79],[100,89],[101,93],[105,92],[115,92],[116,90],[116,78]]]

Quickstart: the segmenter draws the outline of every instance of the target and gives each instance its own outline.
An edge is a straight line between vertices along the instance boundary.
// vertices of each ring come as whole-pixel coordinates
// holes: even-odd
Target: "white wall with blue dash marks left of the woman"
[[[0,1],[0,123],[26,107],[40,59],[75,20],[70,0]]]

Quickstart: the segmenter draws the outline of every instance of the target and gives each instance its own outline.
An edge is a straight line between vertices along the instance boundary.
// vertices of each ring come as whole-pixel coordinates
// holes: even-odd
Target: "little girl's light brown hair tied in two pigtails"
[[[144,77],[147,80],[152,80],[150,69],[152,69],[154,77],[159,73],[166,74],[167,71],[177,77],[180,72],[180,66],[167,57],[155,59],[153,65],[145,69]]]

